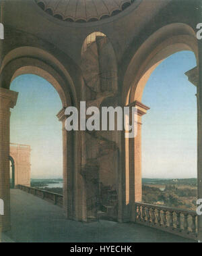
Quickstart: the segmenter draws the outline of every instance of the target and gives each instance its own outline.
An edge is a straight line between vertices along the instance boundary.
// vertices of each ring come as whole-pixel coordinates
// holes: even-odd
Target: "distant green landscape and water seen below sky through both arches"
[[[31,186],[63,195],[63,179],[31,179]],[[195,211],[197,178],[142,179],[142,201]]]

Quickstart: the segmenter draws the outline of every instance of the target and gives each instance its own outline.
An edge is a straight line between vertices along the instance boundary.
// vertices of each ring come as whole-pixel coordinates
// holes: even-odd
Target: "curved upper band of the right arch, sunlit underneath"
[[[187,24],[169,24],[149,36],[131,57],[125,72],[123,104],[141,101],[151,73],[166,57],[178,51],[193,51],[199,63],[195,31]]]

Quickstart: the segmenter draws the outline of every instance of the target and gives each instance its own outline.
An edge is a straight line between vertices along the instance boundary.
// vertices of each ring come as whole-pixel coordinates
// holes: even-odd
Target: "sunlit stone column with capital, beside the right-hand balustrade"
[[[137,136],[129,138],[129,205],[131,205],[131,217],[133,203],[140,202],[142,197],[141,188],[141,117],[147,113],[149,107],[139,101],[134,101],[129,107],[137,108]]]

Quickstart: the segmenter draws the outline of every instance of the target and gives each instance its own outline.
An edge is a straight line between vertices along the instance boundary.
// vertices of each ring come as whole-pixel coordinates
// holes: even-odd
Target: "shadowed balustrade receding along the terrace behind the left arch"
[[[57,193],[52,193],[46,190],[42,190],[39,188],[31,188],[29,186],[18,185],[16,188],[23,190],[26,193],[30,193],[35,195],[36,197],[40,197],[54,205],[58,205],[59,207],[63,207],[63,195],[59,195]]]

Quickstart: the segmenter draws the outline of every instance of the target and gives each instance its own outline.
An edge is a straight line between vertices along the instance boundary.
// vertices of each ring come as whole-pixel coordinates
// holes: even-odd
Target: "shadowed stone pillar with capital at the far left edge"
[[[4,215],[0,215],[1,232],[10,230],[10,188],[9,188],[9,132],[10,108],[17,102],[18,93],[0,88],[0,199],[4,202]]]

